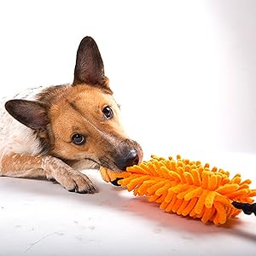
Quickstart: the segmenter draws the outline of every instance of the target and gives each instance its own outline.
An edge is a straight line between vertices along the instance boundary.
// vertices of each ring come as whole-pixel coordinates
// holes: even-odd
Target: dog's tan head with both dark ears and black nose
[[[36,101],[11,100],[5,106],[37,132],[45,153],[62,160],[91,160],[117,172],[142,160],[142,148],[120,123],[119,106],[92,38],[79,44],[73,84],[49,87]]]

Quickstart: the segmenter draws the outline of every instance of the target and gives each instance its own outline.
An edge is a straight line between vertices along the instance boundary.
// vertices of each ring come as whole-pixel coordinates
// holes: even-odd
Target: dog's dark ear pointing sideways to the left
[[[5,103],[5,108],[21,124],[34,130],[44,129],[49,124],[47,107],[43,103],[11,100]]]

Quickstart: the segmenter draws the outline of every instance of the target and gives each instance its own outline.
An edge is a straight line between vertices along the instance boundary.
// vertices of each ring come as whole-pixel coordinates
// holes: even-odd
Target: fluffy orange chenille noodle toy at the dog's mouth
[[[203,223],[224,224],[235,218],[241,210],[254,212],[252,197],[256,189],[250,189],[251,180],[241,181],[241,175],[230,178],[230,173],[200,161],[177,160],[152,156],[151,160],[128,167],[127,172],[111,172],[102,167],[106,182],[117,181],[134,195],[146,195],[148,201],[160,204],[165,212],[200,218]]]

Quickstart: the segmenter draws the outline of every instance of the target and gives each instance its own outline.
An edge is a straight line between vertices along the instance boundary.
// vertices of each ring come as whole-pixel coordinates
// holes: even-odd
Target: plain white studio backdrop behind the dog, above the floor
[[[1,95],[72,82],[95,38],[148,154],[256,152],[254,1],[3,1]]]

